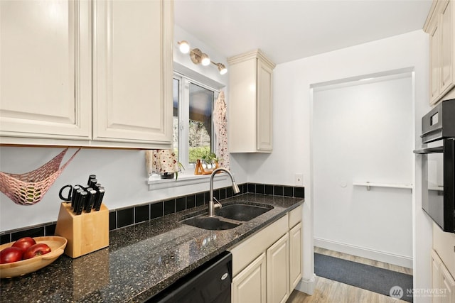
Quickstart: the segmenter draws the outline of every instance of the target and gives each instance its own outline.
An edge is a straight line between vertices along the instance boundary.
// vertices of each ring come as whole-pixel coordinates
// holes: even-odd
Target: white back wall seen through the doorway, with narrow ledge
[[[412,268],[411,72],[315,87],[315,246]]]

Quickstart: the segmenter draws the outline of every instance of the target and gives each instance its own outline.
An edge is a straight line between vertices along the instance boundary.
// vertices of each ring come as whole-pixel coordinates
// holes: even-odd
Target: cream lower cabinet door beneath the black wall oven
[[[435,250],[432,250],[433,303],[455,302],[455,280]]]

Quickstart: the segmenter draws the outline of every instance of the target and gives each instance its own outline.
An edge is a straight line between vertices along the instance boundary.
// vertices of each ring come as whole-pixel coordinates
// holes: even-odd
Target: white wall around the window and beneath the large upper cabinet
[[[196,39],[188,38],[189,34],[176,28],[175,39],[188,40],[195,47],[201,48],[213,57],[216,62],[225,62],[216,50],[209,48]],[[191,37],[191,36],[190,36]],[[218,83],[218,87],[228,84],[228,75],[220,76],[215,65],[201,68],[194,65],[188,55],[181,56],[174,45],[174,54],[180,67],[192,71],[193,75],[203,72],[204,78]],[[63,148],[16,148],[0,147],[0,170],[2,172],[24,173],[35,170],[48,160],[58,155]],[[70,149],[63,162],[73,155],[75,149]],[[176,197],[179,195],[202,192],[209,189],[208,182],[203,184],[171,187],[149,191],[146,184],[145,158],[143,150],[106,150],[83,149],[76,155],[73,162],[66,167],[62,175],[55,181],[41,202],[33,206],[14,204],[3,193],[0,193],[0,232],[15,228],[33,226],[51,221],[57,221],[60,199],[58,190],[65,184],[84,184],[90,174],[95,174],[105,185],[104,202],[108,209],[144,204]],[[239,162],[240,161],[240,162]],[[231,170],[235,180],[241,184],[247,182],[245,156],[231,157]],[[230,180],[215,182],[215,187],[230,186]]]

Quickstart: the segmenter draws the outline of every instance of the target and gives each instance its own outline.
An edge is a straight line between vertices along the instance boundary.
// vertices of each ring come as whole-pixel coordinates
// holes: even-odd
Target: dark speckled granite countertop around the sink
[[[72,259],[60,256],[23,277],[1,279],[1,302],[143,302],[178,278],[282,217],[301,198],[242,194],[222,204],[247,201],[274,209],[225,231],[181,224],[207,205],[109,233],[109,248]]]

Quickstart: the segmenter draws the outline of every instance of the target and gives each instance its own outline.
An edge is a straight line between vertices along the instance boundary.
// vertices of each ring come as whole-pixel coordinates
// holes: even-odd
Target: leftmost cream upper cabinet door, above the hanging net
[[[89,139],[90,1],[0,1],[0,23],[2,143]]]

